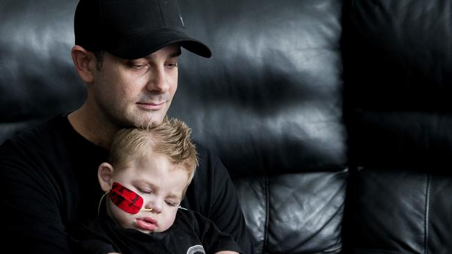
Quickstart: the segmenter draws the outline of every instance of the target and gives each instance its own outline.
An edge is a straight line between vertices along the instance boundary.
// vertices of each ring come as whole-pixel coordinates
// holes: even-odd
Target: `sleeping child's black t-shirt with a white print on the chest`
[[[241,253],[234,239],[220,232],[212,221],[197,212],[179,209],[173,225],[165,232],[145,234],[122,228],[109,217],[97,217],[70,233],[79,253],[161,254],[161,253]]]

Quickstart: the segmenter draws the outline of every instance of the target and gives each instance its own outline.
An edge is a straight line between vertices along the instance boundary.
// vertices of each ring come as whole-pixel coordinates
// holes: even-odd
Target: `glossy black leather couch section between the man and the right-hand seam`
[[[179,1],[210,60],[184,56],[170,114],[222,158],[258,253],[341,248],[341,1]]]

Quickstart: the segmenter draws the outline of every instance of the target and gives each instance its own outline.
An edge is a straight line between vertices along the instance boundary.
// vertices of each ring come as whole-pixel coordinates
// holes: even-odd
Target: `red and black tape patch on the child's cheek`
[[[129,214],[140,212],[140,209],[143,206],[143,198],[133,190],[122,186],[120,183],[113,183],[109,196],[111,201],[118,206],[118,208],[121,208],[121,210],[124,210],[124,212],[128,212]]]

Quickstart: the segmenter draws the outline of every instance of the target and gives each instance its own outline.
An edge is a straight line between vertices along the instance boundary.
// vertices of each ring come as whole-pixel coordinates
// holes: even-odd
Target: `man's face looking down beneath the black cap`
[[[177,90],[180,53],[178,44],[135,60],[104,53],[88,86],[92,113],[118,128],[161,122]]]

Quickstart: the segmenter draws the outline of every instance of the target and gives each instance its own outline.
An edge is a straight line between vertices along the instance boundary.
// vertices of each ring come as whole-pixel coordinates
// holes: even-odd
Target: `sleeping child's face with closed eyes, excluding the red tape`
[[[152,211],[142,209],[137,214],[129,214],[108,198],[110,217],[123,228],[149,233],[163,232],[175,221],[188,176],[181,166],[171,164],[165,156],[152,154],[129,163],[124,169],[115,169],[112,180],[140,195],[143,208]]]

